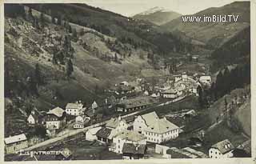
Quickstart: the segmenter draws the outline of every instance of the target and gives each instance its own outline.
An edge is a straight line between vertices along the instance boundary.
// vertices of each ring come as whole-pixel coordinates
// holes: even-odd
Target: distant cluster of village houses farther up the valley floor
[[[109,91],[121,97],[127,98],[127,94],[142,93],[143,96],[151,98],[178,98],[184,94],[190,93],[198,96],[198,86],[210,86],[210,76],[190,77],[185,72],[173,75],[170,78],[159,79],[156,84],[146,82],[144,78],[138,78],[133,82],[120,82],[112,87]]]

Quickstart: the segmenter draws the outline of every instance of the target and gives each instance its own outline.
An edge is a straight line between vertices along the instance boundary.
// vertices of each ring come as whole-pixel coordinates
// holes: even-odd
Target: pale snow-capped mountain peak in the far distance
[[[133,18],[152,22],[158,26],[161,26],[166,22],[170,22],[180,16],[181,14],[178,14],[174,11],[165,10],[161,7],[154,7],[150,10],[146,10],[145,12],[135,14]]]

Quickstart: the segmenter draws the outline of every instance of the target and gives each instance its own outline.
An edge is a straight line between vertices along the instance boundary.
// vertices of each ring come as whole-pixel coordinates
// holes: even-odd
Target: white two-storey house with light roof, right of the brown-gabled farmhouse
[[[68,103],[66,105],[66,114],[78,116],[82,115],[84,112],[84,108],[81,102]]]

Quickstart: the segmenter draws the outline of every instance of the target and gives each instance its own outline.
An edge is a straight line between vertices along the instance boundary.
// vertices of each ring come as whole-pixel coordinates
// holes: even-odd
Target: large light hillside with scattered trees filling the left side
[[[26,131],[26,114],[34,107],[48,111],[78,100],[86,106],[94,100],[101,104],[108,96],[105,89],[142,77],[143,70],[162,75],[150,66],[149,52],[140,46],[134,48],[90,27],[58,25],[50,15],[14,6],[20,12],[5,10],[5,98],[13,102],[5,109],[6,136]],[[70,78],[69,61],[74,70]]]

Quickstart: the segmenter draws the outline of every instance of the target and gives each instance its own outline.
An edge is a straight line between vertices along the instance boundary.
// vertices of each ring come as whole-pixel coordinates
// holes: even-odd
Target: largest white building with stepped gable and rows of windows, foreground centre
[[[151,112],[135,118],[134,131],[145,135],[147,142],[161,143],[178,138],[179,127]]]

